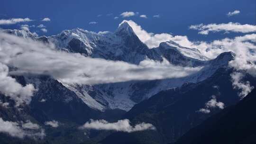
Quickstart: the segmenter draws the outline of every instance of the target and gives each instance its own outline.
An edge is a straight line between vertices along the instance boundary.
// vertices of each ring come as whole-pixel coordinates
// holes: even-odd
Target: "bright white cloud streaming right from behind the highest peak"
[[[173,40],[174,42],[182,45],[182,46],[191,46],[193,45],[192,42],[190,42],[187,38],[187,36],[172,36],[167,33],[162,34],[154,34],[154,33],[148,33],[146,30],[142,29],[141,26],[137,25],[132,20],[123,20],[119,26],[124,23],[128,22],[128,24],[132,27],[135,34],[138,36],[138,38],[145,43],[149,48],[157,47],[160,43]]]

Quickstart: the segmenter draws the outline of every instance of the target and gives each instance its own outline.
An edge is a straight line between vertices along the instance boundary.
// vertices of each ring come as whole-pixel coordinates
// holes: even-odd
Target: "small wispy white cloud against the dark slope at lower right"
[[[201,108],[198,110],[198,112],[202,112],[205,114],[210,113],[210,109],[213,108],[219,108],[219,109],[223,109],[224,108],[224,103],[223,102],[218,102],[216,99],[216,96],[211,96],[211,99],[205,103],[205,108]]]

